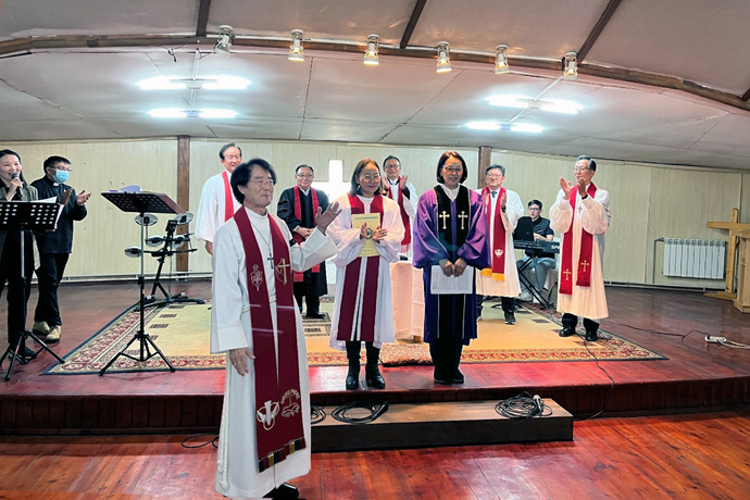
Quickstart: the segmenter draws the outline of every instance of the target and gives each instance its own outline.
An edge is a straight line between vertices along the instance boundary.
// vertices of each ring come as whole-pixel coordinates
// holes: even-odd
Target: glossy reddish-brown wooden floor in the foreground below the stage
[[[0,499],[221,498],[183,436],[0,438]],[[314,453],[308,499],[745,499],[750,412],[605,418],[572,442]]]

